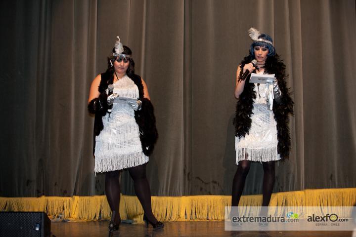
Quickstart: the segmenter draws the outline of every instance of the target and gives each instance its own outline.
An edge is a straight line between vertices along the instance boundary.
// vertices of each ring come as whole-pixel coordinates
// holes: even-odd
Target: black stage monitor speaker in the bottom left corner
[[[50,237],[50,220],[45,212],[1,211],[0,237]]]

